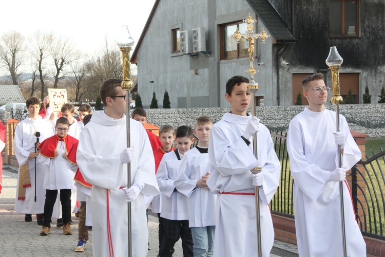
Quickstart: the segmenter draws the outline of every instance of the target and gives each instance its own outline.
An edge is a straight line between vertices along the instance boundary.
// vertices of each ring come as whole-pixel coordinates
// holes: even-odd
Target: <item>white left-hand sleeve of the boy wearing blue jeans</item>
[[[190,197],[192,192],[197,189],[196,186],[198,179],[191,179],[190,176],[191,163],[189,162],[189,158],[185,155],[181,163],[178,177],[174,181],[174,186],[176,187],[178,192],[184,194],[187,197]]]

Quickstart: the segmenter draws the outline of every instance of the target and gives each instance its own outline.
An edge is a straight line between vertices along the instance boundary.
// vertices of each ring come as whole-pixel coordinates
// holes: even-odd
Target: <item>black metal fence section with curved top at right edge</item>
[[[362,234],[385,240],[385,151],[352,168],[352,197]]]

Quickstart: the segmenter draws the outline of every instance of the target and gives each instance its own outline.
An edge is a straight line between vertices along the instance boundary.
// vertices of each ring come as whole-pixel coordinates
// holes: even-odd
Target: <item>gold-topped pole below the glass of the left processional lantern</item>
[[[127,129],[127,147],[130,147],[130,90],[133,88],[130,72],[130,51],[131,47],[120,47],[123,56],[123,81],[122,89],[126,90],[126,129]],[[131,187],[131,163],[127,163],[127,187]],[[132,236],[131,236],[131,203],[127,203],[128,215],[128,257],[132,256]]]

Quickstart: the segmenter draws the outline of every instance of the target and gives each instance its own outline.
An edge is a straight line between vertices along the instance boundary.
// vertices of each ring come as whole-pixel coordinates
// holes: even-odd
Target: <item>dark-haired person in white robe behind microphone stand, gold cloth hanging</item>
[[[35,154],[36,132],[40,132],[39,143],[44,139],[53,135],[52,125],[45,119],[42,119],[38,115],[40,109],[40,100],[36,97],[31,97],[26,101],[26,106],[29,115],[26,119],[17,123],[15,128],[15,136],[13,142],[13,150],[17,162],[19,164],[19,170],[17,174],[17,185],[23,183],[21,181],[21,169],[28,169],[28,177],[30,185],[24,184],[21,187],[16,188],[15,199],[15,211],[20,213],[26,213],[26,221],[32,221],[31,214],[37,215],[39,225],[43,224],[43,212],[45,201],[45,189],[43,188],[45,167],[36,161],[36,178],[35,178],[35,157],[38,155],[38,151]],[[37,108],[37,110],[36,110]],[[22,179],[23,180],[23,179]],[[34,201],[35,195],[35,180],[36,180],[36,201]],[[25,189],[24,197],[22,192]]]

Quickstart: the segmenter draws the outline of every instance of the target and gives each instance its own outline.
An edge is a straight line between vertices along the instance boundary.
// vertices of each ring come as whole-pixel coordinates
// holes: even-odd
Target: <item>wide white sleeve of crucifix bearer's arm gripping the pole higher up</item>
[[[220,126],[211,128],[208,155],[211,165],[222,176],[242,174],[258,166],[257,159],[241,136],[232,144]]]

